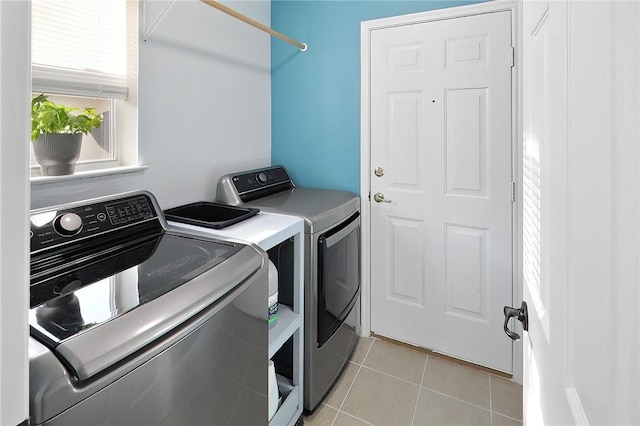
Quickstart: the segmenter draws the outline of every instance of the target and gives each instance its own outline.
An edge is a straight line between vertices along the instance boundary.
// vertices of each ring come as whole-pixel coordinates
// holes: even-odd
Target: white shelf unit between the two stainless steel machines
[[[293,377],[278,375],[282,403],[269,422],[270,426],[295,425],[302,416],[304,366],[304,222],[299,217],[260,212],[256,216],[223,229],[208,229],[183,223],[172,226],[207,232],[213,236],[253,243],[267,251],[283,242],[293,241],[293,306],[278,305],[278,319],[269,328],[269,359],[282,346],[293,340]],[[280,271],[279,271],[280,273]],[[267,301],[265,300],[265,309]],[[266,371],[267,360],[265,360]]]

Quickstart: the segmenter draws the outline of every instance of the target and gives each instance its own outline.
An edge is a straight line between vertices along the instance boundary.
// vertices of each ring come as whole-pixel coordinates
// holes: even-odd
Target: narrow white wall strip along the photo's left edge
[[[0,1],[0,425],[28,415],[30,10]]]

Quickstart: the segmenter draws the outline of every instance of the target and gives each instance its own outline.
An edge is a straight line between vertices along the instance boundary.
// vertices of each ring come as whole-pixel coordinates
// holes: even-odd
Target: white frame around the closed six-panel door
[[[371,31],[402,25],[460,18],[492,12],[511,12],[511,45],[515,48],[511,70],[511,173],[515,182],[512,205],[513,304],[522,300],[522,7],[520,1],[495,0],[409,15],[363,21],[360,24],[360,194],[362,225],[361,335],[371,333]],[[505,336],[505,339],[508,337]],[[522,340],[513,346],[513,380],[522,383]]]

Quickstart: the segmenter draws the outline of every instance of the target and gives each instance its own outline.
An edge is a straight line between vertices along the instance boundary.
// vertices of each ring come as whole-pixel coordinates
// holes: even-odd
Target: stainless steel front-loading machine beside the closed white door
[[[340,377],[358,338],[360,199],[296,187],[282,166],[223,176],[216,198],[305,221],[304,408],[311,412]]]

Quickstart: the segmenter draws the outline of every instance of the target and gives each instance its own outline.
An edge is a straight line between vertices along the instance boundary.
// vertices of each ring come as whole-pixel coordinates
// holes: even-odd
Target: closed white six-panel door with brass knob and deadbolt
[[[507,372],[511,58],[509,11],[371,32],[371,330]]]

